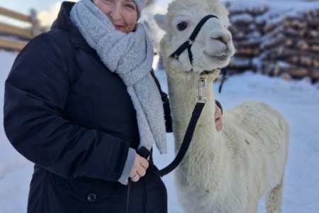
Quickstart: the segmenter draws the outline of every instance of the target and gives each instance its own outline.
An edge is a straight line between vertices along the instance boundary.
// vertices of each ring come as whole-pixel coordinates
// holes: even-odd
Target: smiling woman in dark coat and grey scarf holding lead
[[[4,127],[35,163],[28,212],[167,212],[162,180],[136,153],[153,143],[165,153],[165,120],[171,129],[167,95],[150,72],[152,45],[137,23],[143,6],[64,2],[51,31],[16,58]]]

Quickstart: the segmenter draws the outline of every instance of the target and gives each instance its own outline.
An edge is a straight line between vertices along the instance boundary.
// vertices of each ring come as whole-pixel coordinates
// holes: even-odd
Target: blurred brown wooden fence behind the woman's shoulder
[[[0,6],[0,16],[29,23],[30,25],[28,28],[22,28],[0,22],[0,49],[20,51],[29,40],[40,33],[40,23],[36,18],[35,10],[31,10],[30,16],[26,16]]]

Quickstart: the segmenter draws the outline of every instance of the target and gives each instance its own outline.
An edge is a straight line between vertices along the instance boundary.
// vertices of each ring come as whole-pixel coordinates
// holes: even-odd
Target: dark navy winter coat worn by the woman
[[[69,20],[73,4],[64,2],[52,30],[16,58],[5,84],[4,128],[35,163],[28,212],[125,212],[128,188],[117,180],[128,148],[139,145],[135,109],[121,78]],[[166,94],[162,99],[169,111]],[[165,196],[162,180],[147,173],[133,183],[128,209],[165,212]]]

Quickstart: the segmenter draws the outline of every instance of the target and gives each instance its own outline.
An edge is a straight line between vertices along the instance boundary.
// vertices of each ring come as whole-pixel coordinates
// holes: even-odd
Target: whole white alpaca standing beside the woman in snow
[[[179,60],[170,57],[208,14],[218,18],[208,19],[198,33],[191,47],[193,64],[187,50]],[[219,0],[176,0],[169,4],[166,16],[155,19],[167,32],[160,46],[179,151],[198,96],[198,74],[225,67],[235,52],[227,29],[228,11]],[[267,212],[281,212],[289,126],[268,104],[247,101],[225,111],[223,130],[216,131],[212,84],[218,73],[206,78],[206,107],[189,150],[175,171],[179,202],[191,213],[255,213],[260,197],[267,195]]]

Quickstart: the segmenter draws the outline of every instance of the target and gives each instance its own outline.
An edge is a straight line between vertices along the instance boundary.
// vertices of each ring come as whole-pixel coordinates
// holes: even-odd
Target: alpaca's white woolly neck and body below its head
[[[178,151],[197,88],[196,82],[177,82],[169,77],[168,86]],[[247,101],[224,112],[223,130],[217,132],[212,82],[203,97],[208,102],[189,151],[175,171],[179,202],[185,212],[257,212],[259,198],[283,178],[288,124],[268,104]]]

